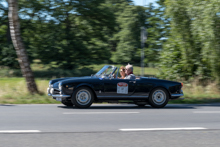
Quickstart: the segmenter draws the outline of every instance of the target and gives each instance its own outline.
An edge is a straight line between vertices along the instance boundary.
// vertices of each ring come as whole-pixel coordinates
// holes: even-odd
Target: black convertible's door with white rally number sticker
[[[136,80],[104,79],[104,93],[106,97],[131,96],[136,87]]]

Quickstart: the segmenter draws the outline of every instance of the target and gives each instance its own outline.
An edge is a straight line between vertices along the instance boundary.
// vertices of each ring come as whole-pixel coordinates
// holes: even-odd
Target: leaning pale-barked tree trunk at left
[[[28,91],[31,94],[38,93],[37,85],[34,80],[34,75],[28,61],[28,56],[21,40],[20,24],[18,17],[18,0],[8,0],[8,5],[8,18],[10,24],[11,39],[15,47],[16,54],[18,56],[18,62],[21,67],[22,75],[26,79]]]

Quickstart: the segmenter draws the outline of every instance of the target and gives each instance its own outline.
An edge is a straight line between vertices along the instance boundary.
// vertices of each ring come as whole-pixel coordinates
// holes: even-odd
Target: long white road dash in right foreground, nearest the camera
[[[192,127],[192,128],[128,128],[119,129],[120,131],[178,131],[178,130],[204,130],[207,128],[203,127]]]

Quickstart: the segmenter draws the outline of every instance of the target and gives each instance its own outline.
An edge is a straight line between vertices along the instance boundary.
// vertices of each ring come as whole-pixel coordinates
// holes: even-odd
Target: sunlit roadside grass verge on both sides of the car
[[[28,94],[24,78],[0,78],[0,104],[56,104],[60,103],[47,96],[49,80],[36,79],[41,94]],[[184,84],[184,100],[169,101],[170,104],[202,104],[220,102],[216,83],[198,86],[196,82]]]

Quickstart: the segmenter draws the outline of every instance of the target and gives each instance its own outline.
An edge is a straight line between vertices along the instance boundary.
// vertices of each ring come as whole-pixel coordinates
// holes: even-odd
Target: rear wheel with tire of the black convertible
[[[169,101],[169,94],[164,88],[154,89],[148,99],[149,104],[154,108],[163,108]]]

